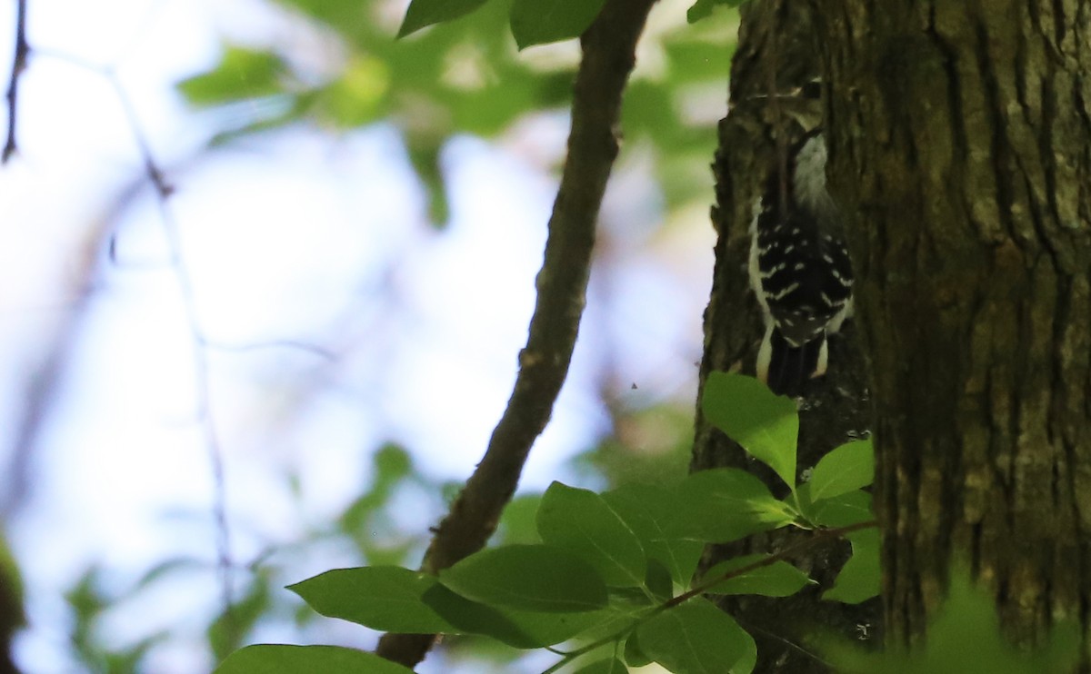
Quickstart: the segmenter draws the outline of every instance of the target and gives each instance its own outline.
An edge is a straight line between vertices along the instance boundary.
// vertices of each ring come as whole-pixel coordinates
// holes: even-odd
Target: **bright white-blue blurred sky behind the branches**
[[[7,8],[3,73],[14,2]],[[465,479],[506,402],[555,190],[546,167],[566,120],[539,116],[493,144],[452,141],[443,232],[427,222],[393,128],[338,136],[299,127],[205,152],[223,116],[188,109],[173,83],[214,64],[225,37],[296,33],[271,4],[250,0],[31,0],[37,52],[20,89],[21,152],[0,169],[5,453],[44,359],[64,358],[33,445],[28,501],[8,531],[28,586],[31,628],[16,650],[27,672],[74,671],[61,592],[88,565],[123,588],[171,555],[215,559],[193,324],[169,222],[214,345],[201,354],[237,559],[290,543],[344,507],[367,486],[370,453],[384,441],[412,449],[436,479]],[[177,188],[166,216],[143,180],[118,91],[88,64],[112,69]],[[683,214],[695,226],[657,227],[662,206],[647,160],[628,155],[608,195],[611,248],[524,489],[571,479],[565,460],[607,429],[591,388],[604,358],[639,385],[623,405],[693,397],[712,231],[707,205]],[[299,501],[285,480],[291,471]],[[404,523],[425,529],[432,521],[421,513],[406,508]],[[297,559],[288,581],[344,554],[323,552]],[[120,606],[104,639],[171,626],[179,638],[153,652],[147,671],[207,671],[213,663],[192,645],[217,587],[212,570],[192,579],[184,592]],[[370,646],[360,628],[334,623],[302,639]],[[275,628],[262,637],[301,638]]]

